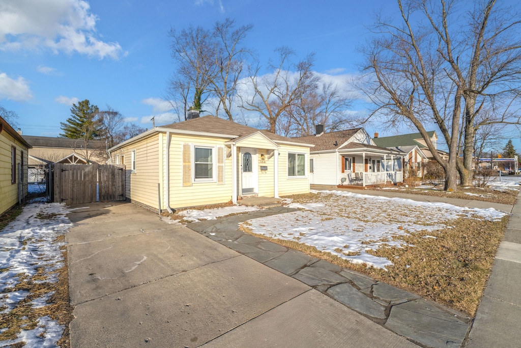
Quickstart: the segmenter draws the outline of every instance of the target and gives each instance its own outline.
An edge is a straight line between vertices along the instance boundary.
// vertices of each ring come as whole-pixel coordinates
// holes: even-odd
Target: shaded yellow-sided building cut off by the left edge
[[[0,214],[27,196],[27,160],[31,146],[0,117]]]

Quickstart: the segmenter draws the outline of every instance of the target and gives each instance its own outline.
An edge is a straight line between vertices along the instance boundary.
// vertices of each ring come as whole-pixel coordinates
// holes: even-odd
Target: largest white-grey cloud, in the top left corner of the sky
[[[117,42],[96,36],[96,15],[83,0],[2,0],[0,2],[0,49],[35,50],[46,47],[55,53],[80,53],[117,59]]]

